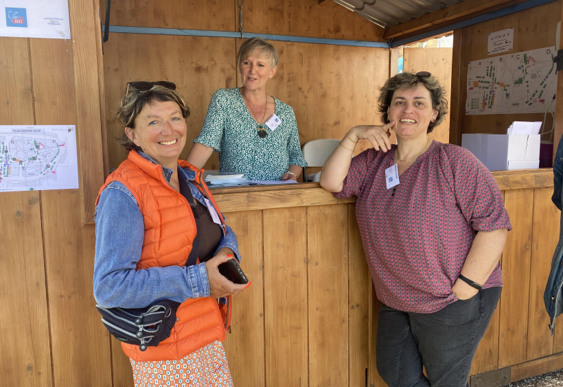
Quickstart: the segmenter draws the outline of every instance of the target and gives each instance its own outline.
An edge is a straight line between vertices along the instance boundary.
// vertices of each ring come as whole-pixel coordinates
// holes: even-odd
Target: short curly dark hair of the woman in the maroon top
[[[430,122],[426,132],[432,132],[434,128],[441,123],[442,119],[444,119],[444,115],[448,113],[448,101],[444,97],[444,89],[433,75],[421,71],[420,73],[398,73],[394,77],[389,78],[380,89],[378,110],[379,113],[381,113],[381,119],[384,124],[389,122],[387,110],[389,110],[389,106],[391,105],[393,93],[399,89],[415,89],[418,84],[424,85],[424,87],[430,91],[432,107],[438,110],[435,121]]]

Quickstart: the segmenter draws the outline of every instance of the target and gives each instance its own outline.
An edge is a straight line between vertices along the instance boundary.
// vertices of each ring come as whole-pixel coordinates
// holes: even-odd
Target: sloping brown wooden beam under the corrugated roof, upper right
[[[320,0],[319,0],[320,1]],[[432,30],[443,25],[450,25],[500,10],[502,8],[524,3],[527,0],[466,0],[451,5],[416,19],[393,25],[383,33],[385,40],[393,38],[406,38],[418,33]]]

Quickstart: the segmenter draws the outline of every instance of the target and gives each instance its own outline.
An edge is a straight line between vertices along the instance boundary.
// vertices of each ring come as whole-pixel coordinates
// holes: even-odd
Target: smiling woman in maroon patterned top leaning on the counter
[[[499,259],[511,228],[503,198],[471,152],[428,137],[448,112],[430,73],[387,80],[378,108],[385,124],[350,129],[321,174],[336,198],[358,198],[382,303],[378,371],[391,387],[469,386],[503,285]],[[374,148],[352,158],[360,140]]]

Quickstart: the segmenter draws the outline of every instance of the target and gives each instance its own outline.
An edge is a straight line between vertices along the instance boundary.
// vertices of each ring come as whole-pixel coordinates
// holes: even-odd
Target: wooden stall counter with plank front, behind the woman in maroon
[[[550,336],[542,301],[559,237],[553,171],[493,174],[514,229],[501,302],[472,368],[479,386],[500,368],[508,381],[563,368],[563,322]],[[213,192],[252,281],[234,298],[225,342],[235,385],[385,386],[375,366],[379,304],[355,200],[336,200],[318,183]]]

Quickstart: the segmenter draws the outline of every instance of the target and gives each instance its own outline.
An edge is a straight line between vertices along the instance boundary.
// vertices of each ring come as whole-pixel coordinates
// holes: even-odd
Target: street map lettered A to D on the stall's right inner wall
[[[556,54],[546,47],[469,62],[466,114],[544,113],[555,98]]]

